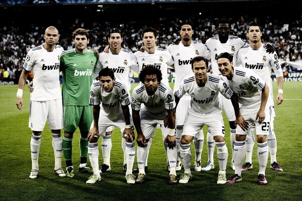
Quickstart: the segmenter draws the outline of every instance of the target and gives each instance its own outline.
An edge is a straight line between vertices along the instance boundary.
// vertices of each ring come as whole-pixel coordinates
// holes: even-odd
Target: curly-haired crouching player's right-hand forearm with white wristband
[[[169,149],[173,149],[176,146],[176,138],[175,138],[175,109],[167,110],[168,112],[168,129],[169,133],[165,139],[167,146]]]

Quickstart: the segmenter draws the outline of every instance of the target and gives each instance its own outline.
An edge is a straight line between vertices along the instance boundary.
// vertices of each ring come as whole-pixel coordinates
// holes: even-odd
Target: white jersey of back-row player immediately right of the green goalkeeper
[[[112,69],[116,79],[127,84],[128,92],[131,89],[129,82],[130,69],[139,73],[134,54],[124,48],[121,49],[119,54],[113,54],[110,50],[109,53],[100,53],[97,67],[94,71],[94,78],[99,76],[99,72],[103,68]]]

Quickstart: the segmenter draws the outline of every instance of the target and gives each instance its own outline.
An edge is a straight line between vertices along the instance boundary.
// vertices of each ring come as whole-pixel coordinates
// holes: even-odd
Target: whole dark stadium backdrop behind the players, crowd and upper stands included
[[[145,27],[158,30],[158,46],[167,48],[179,37],[179,22],[191,20],[194,40],[205,42],[216,36],[216,22],[230,19],[231,34],[246,40],[246,27],[256,20],[263,27],[263,42],[275,47],[287,81],[302,81],[302,13],[294,1],[181,1],[181,0],[54,0],[0,1],[0,68],[10,71],[8,82],[18,83],[26,53],[44,39],[44,30],[55,26],[59,44],[73,48],[71,33],[79,27],[90,31],[89,48],[103,51],[107,33],[118,27],[123,47],[135,52],[142,45]],[[173,72],[170,73],[173,76]],[[272,75],[273,76],[273,75]]]

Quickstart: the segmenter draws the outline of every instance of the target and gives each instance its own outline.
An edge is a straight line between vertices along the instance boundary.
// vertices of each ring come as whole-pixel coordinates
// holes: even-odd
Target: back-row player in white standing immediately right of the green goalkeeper
[[[102,52],[99,55],[99,61],[97,63],[97,70],[103,68],[110,68],[114,72],[114,76],[120,80],[122,83],[126,84],[127,92],[130,94],[131,84],[129,82],[130,69],[139,72],[138,66],[136,64],[135,56],[132,52],[121,47],[123,38],[121,36],[121,30],[114,28],[109,31],[108,42],[109,48],[108,51]],[[95,71],[98,73],[97,71]],[[101,108],[102,110],[102,108]],[[102,153],[104,164],[101,165],[102,172],[110,171],[110,152],[112,148],[111,134],[114,127],[109,127],[106,130],[106,135],[102,135]],[[126,171],[126,155],[125,155],[125,138],[122,136],[122,149],[124,153],[124,171]]]

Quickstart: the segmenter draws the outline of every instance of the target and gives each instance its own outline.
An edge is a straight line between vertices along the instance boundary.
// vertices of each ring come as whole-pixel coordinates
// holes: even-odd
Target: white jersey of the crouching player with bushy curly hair
[[[141,104],[144,107],[141,108]],[[139,84],[132,91],[132,110],[147,113],[148,116],[163,120],[167,115],[167,110],[173,110],[176,106],[172,89],[160,83],[154,95],[148,95],[144,84]]]

